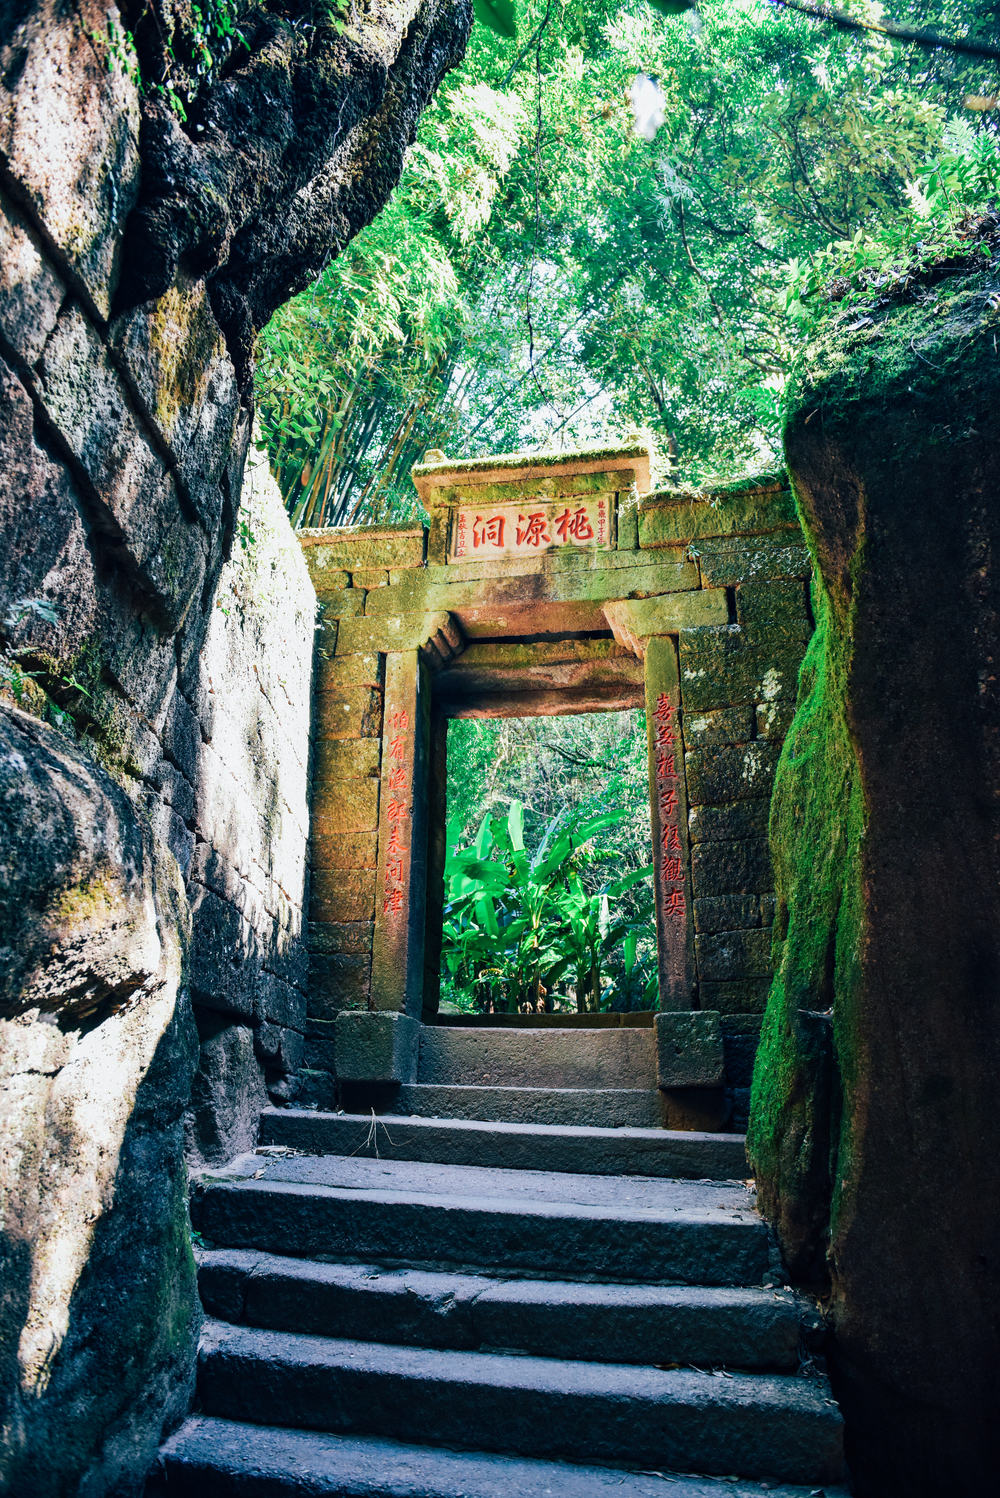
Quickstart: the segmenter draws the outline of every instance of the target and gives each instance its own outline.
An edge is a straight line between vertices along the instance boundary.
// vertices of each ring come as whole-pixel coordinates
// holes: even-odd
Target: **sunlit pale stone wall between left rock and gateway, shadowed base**
[[[237,535],[199,656],[190,767],[190,986],[202,1047],[189,1156],[207,1161],[254,1143],[268,1095],[295,1095],[305,1031],[316,595],[256,452]]]

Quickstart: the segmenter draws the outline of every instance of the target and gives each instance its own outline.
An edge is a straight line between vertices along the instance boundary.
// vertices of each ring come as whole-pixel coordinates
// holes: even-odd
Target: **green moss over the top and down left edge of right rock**
[[[784,437],[793,484],[801,475],[817,628],[771,804],[775,977],[747,1143],[760,1206],[805,1276],[822,1272],[826,1243],[852,1221],[856,1115],[871,1085],[861,1023],[867,806],[850,730],[853,653],[871,614],[865,487],[879,473],[894,482],[898,442],[913,470],[922,452],[961,443],[988,419],[999,288],[996,273],[976,271],[864,318],[855,310],[805,349],[790,383]]]

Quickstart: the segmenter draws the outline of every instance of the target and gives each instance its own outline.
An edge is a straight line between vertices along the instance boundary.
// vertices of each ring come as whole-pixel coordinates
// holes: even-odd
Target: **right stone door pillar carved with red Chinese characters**
[[[677,646],[669,635],[654,635],[645,647],[645,731],[650,750],[660,1008],[690,1010],[695,957],[687,795],[680,733]]]

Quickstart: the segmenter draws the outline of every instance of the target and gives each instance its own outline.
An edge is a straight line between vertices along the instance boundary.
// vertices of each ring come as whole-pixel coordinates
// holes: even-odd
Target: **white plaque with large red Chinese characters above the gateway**
[[[452,527],[452,560],[537,556],[551,547],[608,547],[611,494],[496,509],[460,509]]]

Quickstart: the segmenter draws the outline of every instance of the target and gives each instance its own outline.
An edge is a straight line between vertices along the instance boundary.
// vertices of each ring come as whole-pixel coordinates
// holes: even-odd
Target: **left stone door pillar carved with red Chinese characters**
[[[373,1010],[419,1020],[424,995],[427,762],[431,694],[416,650],[385,658]]]

